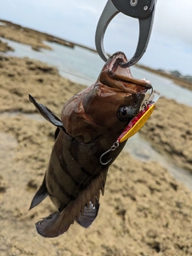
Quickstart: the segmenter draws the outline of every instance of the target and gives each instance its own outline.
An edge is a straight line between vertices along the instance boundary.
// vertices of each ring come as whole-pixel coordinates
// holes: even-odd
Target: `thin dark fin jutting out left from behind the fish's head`
[[[50,111],[49,108],[46,108],[43,104],[38,104],[36,100],[34,100],[34,97],[29,94],[29,99],[32,104],[34,104],[34,107],[38,109],[38,111],[42,114],[42,116],[48,120],[51,124],[54,124],[57,127],[63,128],[62,121],[58,118],[58,116],[55,116],[53,112]]]

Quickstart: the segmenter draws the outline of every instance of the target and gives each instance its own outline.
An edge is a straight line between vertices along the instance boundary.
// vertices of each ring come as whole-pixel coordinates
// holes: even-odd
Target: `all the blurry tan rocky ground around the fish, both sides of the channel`
[[[158,163],[138,161],[126,152],[109,169],[101,208],[90,228],[75,223],[58,238],[38,235],[34,223],[54,206],[46,198],[28,209],[46,171],[54,127],[37,118],[28,94],[60,116],[62,105],[82,86],[45,63],[1,55],[0,90],[2,256],[192,255],[191,192]],[[191,127],[191,108],[161,98],[142,134],[192,171]]]

